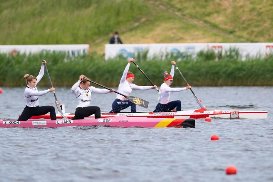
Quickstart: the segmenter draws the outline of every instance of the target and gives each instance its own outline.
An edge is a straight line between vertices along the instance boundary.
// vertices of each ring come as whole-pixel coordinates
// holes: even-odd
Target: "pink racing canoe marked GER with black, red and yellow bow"
[[[172,119],[172,118],[147,118],[147,117],[106,117],[100,119],[82,120],[56,120],[56,121],[12,121],[2,120],[0,127],[65,127],[65,126],[97,126],[106,125],[114,127],[194,127],[194,119]]]

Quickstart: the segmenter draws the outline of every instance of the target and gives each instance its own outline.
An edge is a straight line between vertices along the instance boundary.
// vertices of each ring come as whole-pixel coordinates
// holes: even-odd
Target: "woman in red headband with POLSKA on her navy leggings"
[[[136,84],[133,84],[135,75],[129,71],[130,64],[134,62],[135,59],[130,58],[127,66],[125,67],[123,71],[123,75],[120,79],[120,84],[118,91],[121,94],[124,94],[126,96],[129,96],[132,92],[132,90],[149,90],[153,88],[157,88],[156,85],[154,86],[138,86]],[[116,94],[116,99],[112,103],[112,110],[110,113],[119,113],[121,110],[128,108],[131,106],[131,112],[136,112],[136,104],[130,102],[125,97],[123,97],[120,94]]]

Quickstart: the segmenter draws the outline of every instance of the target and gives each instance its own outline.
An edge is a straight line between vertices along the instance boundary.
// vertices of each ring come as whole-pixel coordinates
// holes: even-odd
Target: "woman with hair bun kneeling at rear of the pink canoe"
[[[25,88],[25,108],[17,121],[26,121],[32,116],[44,115],[50,112],[51,120],[56,120],[55,108],[53,106],[39,106],[39,96],[48,92],[55,91],[55,88],[50,88],[44,91],[38,91],[36,85],[42,79],[44,75],[44,69],[46,61],[42,61],[41,70],[37,78],[35,76],[25,74],[24,79],[27,87]]]

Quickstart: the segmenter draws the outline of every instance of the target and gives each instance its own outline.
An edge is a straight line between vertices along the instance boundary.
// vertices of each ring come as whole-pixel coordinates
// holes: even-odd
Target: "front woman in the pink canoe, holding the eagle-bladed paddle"
[[[95,114],[95,118],[100,118],[100,108],[97,106],[90,106],[91,102],[91,93],[97,94],[108,94],[114,92],[114,89],[106,90],[102,88],[90,87],[89,78],[85,75],[80,75],[79,80],[72,86],[71,91],[78,100],[78,105],[76,107],[75,116],[73,119],[83,119],[92,114]]]

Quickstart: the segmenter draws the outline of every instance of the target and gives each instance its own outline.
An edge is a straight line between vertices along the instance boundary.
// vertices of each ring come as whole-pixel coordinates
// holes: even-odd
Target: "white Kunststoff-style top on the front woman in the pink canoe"
[[[83,107],[90,106],[92,92],[97,94],[110,93],[109,90],[102,89],[102,88],[95,88],[93,86],[87,89],[83,89],[82,87],[79,86],[80,83],[81,83],[80,80],[77,81],[71,88],[72,93],[75,95],[79,103],[76,108],[79,108],[79,107],[83,108]]]

